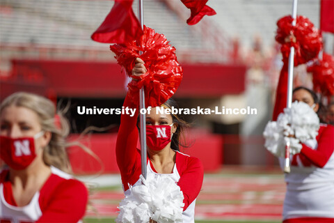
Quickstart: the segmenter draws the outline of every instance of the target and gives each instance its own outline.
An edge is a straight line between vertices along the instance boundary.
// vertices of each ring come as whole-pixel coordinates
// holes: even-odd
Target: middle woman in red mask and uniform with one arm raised
[[[132,75],[140,76],[146,72],[141,59],[136,59]],[[138,141],[138,107],[125,98],[125,107],[136,109],[135,116],[122,114],[116,144],[116,156],[122,185],[125,193],[129,185],[134,185],[141,175],[141,153],[136,148]],[[176,107],[168,100],[161,107]],[[147,174],[155,178],[164,175],[175,180],[184,195],[182,218],[184,223],[194,222],[196,197],[203,181],[203,167],[196,157],[180,153],[179,141],[186,123],[175,114],[156,114],[153,107],[146,115],[146,137],[148,144]]]

